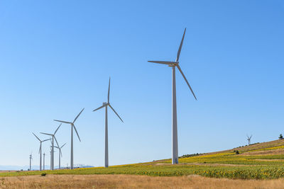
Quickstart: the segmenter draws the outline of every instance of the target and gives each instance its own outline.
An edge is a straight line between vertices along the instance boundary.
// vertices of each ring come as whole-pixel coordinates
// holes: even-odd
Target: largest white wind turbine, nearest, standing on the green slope
[[[186,31],[186,28],[185,28]],[[188,83],[187,79],[185,78],[185,74],[183,74],[182,69],[180,68],[180,51],[182,50],[182,43],[185,38],[185,32],[182,35],[182,40],[180,42],[180,47],[178,48],[178,55],[177,58],[175,59],[175,62],[170,62],[170,61],[148,61],[148,62],[153,62],[157,64],[165,64],[168,65],[169,67],[172,67],[172,164],[178,164],[178,118],[177,118],[177,100],[176,100],[176,91],[175,91],[175,67],[178,68],[180,71],[180,74],[182,74],[182,77],[185,79],[185,82],[187,83],[187,86],[189,86],[190,91],[192,92],[192,95],[195,97],[195,100],[197,100],[195,93],[192,91],[192,88],[190,86],[190,83]]]

